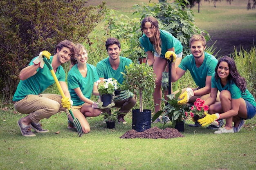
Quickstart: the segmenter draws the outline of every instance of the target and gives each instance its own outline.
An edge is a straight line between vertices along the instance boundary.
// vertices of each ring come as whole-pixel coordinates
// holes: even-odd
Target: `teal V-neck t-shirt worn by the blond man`
[[[179,68],[184,71],[189,70],[195,84],[199,88],[203,88],[205,87],[206,77],[215,73],[217,63],[218,60],[213,55],[204,52],[204,61],[199,68],[195,65],[195,58],[192,54],[181,60]]]

